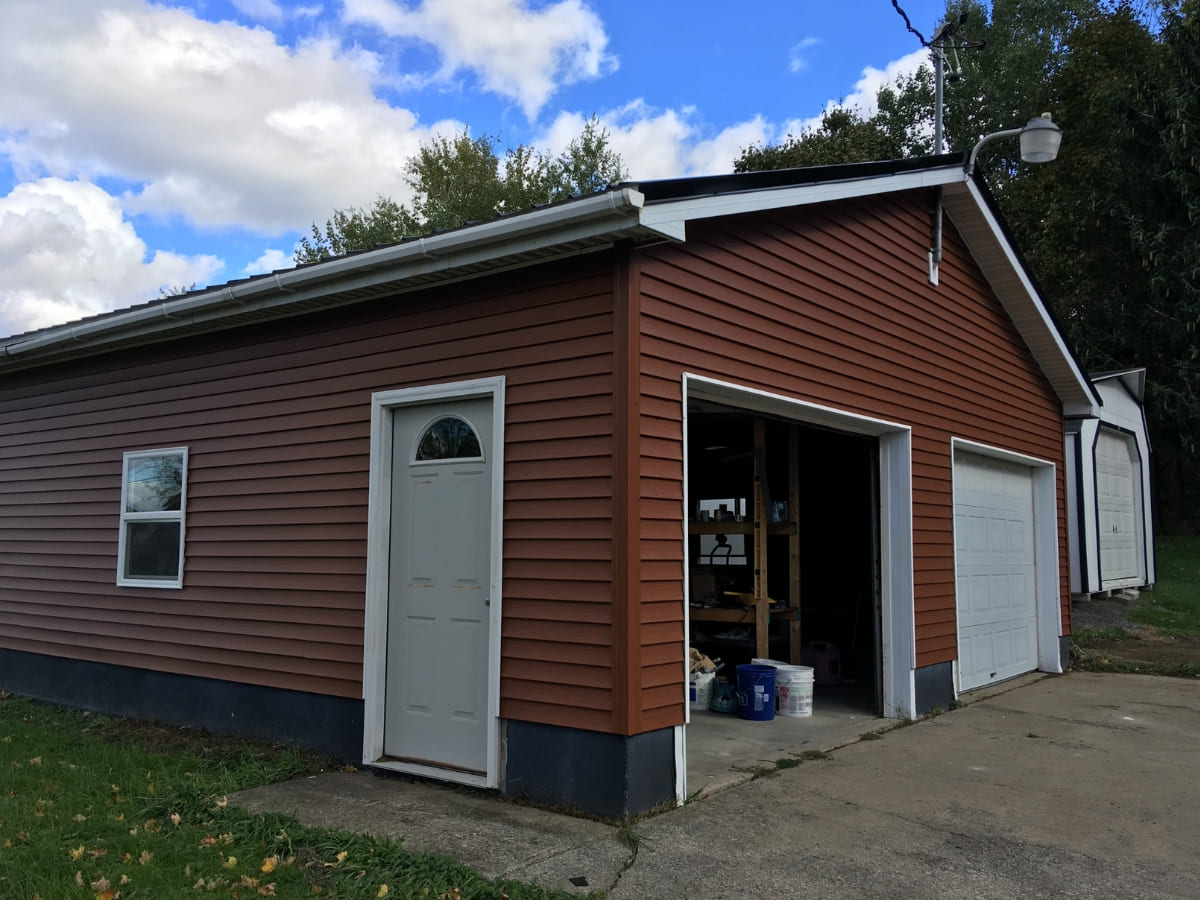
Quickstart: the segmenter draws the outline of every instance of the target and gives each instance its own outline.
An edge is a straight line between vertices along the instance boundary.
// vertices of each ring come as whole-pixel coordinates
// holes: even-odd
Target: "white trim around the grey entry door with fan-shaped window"
[[[388,558],[391,529],[392,414],[415,403],[492,398],[491,598],[487,662],[487,774],[404,763],[383,757],[384,691],[388,672]],[[504,376],[403,388],[371,395],[371,476],[367,499],[367,578],[362,640],[362,762],[377,768],[476,787],[499,784],[500,619],[504,546]]]

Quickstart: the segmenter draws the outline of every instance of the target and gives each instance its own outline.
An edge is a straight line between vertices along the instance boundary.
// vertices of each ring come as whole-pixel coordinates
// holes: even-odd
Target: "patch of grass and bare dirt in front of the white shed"
[[[1159,538],[1154,550],[1154,589],[1142,592],[1128,612],[1136,630],[1076,629],[1074,668],[1200,677],[1200,538]]]

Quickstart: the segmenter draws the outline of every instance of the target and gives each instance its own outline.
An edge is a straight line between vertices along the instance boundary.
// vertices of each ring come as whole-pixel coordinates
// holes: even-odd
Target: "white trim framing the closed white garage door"
[[[1058,598],[1058,500],[1057,467],[1048,460],[1004,450],[1003,448],[979,444],[964,438],[950,438],[950,503],[953,505],[955,481],[954,457],[959,451],[990,456],[995,460],[1028,466],[1033,474],[1033,584],[1037,593],[1038,613],[1038,670],[1042,672],[1062,672],[1058,638],[1062,635],[1062,613]],[[956,517],[955,517],[956,518]],[[958,523],[955,521],[955,528]],[[954,546],[958,547],[958,535]],[[1046,565],[1046,562],[1050,565]],[[954,554],[954,583],[959,583],[959,556]],[[955,642],[959,631],[959,604],[954,601]],[[954,691],[958,695],[961,673],[958,661],[954,666]]]

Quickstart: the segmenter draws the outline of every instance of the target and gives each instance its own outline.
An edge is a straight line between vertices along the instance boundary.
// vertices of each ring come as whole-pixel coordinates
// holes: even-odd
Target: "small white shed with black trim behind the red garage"
[[[1070,592],[1097,594],[1154,583],[1146,370],[1092,376],[1098,419],[1068,419]]]

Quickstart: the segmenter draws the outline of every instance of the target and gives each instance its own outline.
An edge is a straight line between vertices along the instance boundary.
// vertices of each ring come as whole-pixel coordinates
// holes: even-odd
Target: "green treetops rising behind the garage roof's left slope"
[[[437,137],[404,166],[412,206],[378,197],[373,205],[336,210],[324,228],[300,239],[295,262],[317,263],[415,234],[482,222],[535,204],[602,191],[628,178],[608,133],[595,118],[558,156],[521,144],[503,152],[492,134]]]

